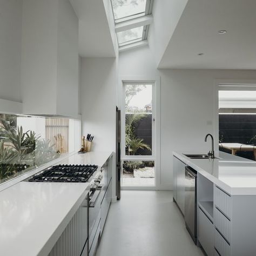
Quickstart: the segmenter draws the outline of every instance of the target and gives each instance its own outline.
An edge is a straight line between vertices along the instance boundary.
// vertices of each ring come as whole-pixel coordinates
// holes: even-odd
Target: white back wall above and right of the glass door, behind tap
[[[145,47],[120,53],[119,76],[160,76],[160,188],[165,189],[172,188],[172,151],[210,150],[204,137],[214,133],[215,79],[256,79],[256,71],[157,70]]]

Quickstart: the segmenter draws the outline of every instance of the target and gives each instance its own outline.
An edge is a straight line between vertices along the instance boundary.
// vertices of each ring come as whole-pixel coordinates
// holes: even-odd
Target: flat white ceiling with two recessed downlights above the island
[[[188,0],[158,68],[256,69],[256,1]]]

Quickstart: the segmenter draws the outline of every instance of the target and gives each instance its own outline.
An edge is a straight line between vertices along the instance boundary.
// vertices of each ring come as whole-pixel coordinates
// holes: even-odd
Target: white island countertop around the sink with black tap
[[[224,152],[219,153],[220,159],[191,159],[182,152],[173,152],[173,155],[227,193],[256,195],[256,161]]]

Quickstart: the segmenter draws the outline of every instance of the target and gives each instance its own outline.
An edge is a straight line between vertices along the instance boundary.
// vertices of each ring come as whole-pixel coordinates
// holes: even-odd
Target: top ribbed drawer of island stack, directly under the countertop
[[[214,205],[223,212],[227,218],[231,219],[232,199],[224,191],[214,186]]]

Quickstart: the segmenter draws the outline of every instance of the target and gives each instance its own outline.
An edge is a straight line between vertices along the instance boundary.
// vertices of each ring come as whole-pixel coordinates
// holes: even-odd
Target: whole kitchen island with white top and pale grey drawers
[[[173,198],[186,215],[192,190],[185,166],[197,171],[198,245],[207,255],[255,255],[256,162],[224,152],[215,159],[173,152]]]

